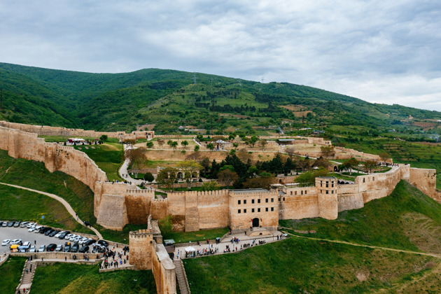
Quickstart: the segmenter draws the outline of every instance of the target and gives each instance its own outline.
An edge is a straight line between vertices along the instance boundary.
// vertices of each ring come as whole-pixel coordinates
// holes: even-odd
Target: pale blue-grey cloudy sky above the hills
[[[0,62],[263,78],[441,111],[440,0],[1,0],[0,40]]]

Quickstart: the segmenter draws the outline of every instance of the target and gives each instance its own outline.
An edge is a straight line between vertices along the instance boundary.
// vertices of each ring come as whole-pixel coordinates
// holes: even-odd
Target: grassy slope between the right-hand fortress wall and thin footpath
[[[343,211],[337,220],[323,218],[280,221],[296,230],[316,230],[314,237],[360,244],[438,253],[441,249],[441,206],[405,181],[388,197],[363,209]]]

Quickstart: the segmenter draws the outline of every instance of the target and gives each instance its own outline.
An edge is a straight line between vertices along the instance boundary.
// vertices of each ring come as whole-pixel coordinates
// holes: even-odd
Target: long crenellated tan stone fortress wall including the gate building
[[[23,128],[26,127],[28,125]],[[38,138],[37,134],[6,127],[0,127],[0,138],[0,148],[7,150],[10,156],[44,162],[50,172],[65,172],[89,186],[94,191],[94,216],[97,217],[97,223],[113,230],[122,230],[127,223],[147,223],[149,215],[156,219],[172,215],[173,228],[178,231],[227,226],[243,229],[249,227],[253,218],[260,218],[260,225],[270,228],[277,225],[278,219],[333,219],[337,218],[339,211],[359,209],[370,200],[386,197],[401,179],[409,181],[440,202],[440,193],[435,189],[435,169],[414,169],[409,165],[399,165],[384,174],[358,176],[355,183],[336,185],[329,194],[324,195],[317,183],[314,187],[286,188],[282,191],[284,195],[281,193],[274,197],[276,212],[270,210],[274,205],[272,203],[251,205],[253,200],[258,201],[264,197],[252,191],[246,195],[235,193],[234,190],[187,191],[168,193],[167,199],[158,200],[153,190],[140,190],[125,183],[108,182],[106,174],[85,153],[72,147],[47,143]],[[248,200],[248,207],[239,208],[237,200],[241,198]],[[266,207],[269,211],[265,211]],[[253,209],[259,208],[260,213],[253,212]],[[241,210],[239,215],[239,209],[247,211],[244,214]]]

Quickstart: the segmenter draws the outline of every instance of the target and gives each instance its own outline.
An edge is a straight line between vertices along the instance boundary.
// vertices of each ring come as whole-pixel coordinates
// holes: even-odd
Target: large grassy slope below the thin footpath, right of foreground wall
[[[421,276],[428,272],[428,262],[439,260],[294,238],[236,254],[183,260],[195,294],[371,293]]]

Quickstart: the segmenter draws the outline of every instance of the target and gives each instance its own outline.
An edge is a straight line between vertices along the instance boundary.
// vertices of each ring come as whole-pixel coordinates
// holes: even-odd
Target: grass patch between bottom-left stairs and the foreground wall
[[[37,267],[32,293],[156,293],[151,271],[98,272],[98,265],[54,263]]]

